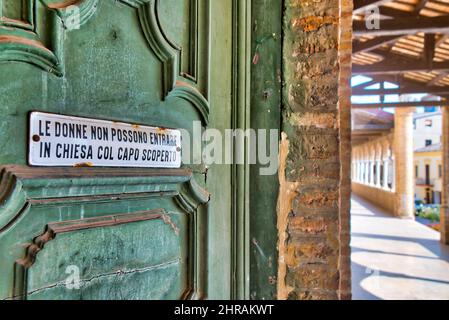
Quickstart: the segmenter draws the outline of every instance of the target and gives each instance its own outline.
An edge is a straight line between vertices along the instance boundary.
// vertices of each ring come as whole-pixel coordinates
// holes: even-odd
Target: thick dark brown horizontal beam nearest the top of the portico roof
[[[365,21],[354,20],[354,35],[363,36],[394,36],[425,33],[449,32],[449,17],[399,17],[394,19],[380,20],[379,29],[370,29]]]

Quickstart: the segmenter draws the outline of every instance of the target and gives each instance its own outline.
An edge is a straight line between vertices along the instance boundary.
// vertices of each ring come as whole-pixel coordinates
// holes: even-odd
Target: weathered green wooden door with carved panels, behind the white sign
[[[0,0],[0,17],[0,299],[230,298],[231,166],[31,167],[27,131],[31,111],[230,128],[233,1]]]

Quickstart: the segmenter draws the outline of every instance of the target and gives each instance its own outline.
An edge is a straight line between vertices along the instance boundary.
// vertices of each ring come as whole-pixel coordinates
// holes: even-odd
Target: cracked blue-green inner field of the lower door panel
[[[187,252],[180,250],[188,237],[180,231],[185,228],[174,227],[186,224],[181,219],[186,217],[164,213],[155,220],[57,234],[27,270],[27,298],[178,299],[189,286]],[[79,290],[66,286],[72,266],[82,266]]]

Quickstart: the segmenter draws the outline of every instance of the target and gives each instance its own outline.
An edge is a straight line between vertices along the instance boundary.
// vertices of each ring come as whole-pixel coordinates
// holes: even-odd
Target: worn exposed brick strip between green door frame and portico
[[[352,2],[285,5],[278,298],[348,299]]]

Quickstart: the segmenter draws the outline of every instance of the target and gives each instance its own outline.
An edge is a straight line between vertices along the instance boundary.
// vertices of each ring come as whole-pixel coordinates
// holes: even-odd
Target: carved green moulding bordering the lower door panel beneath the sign
[[[189,170],[141,170],[94,168],[28,168],[6,166],[0,174],[0,237],[10,230],[25,230],[36,208],[51,212],[56,207],[73,207],[89,203],[114,203],[129,199],[166,199],[172,201],[188,219],[188,289],[182,298],[201,299],[205,294],[205,238],[207,204],[210,195],[196,184]],[[140,199],[140,200],[139,200]],[[52,209],[53,208],[53,209]],[[161,220],[168,227],[166,233],[179,237],[180,230],[165,208],[126,214],[95,214],[94,218],[54,221],[50,215],[42,217],[34,234],[22,239],[22,253],[2,260],[2,283],[9,288],[1,299],[23,299],[28,292],[28,271],[36,257],[58,235],[74,234],[82,230],[108,228],[150,220]],[[54,216],[54,214],[53,214]],[[27,222],[28,221],[28,222]],[[36,222],[33,222],[36,224]],[[35,229],[35,228],[33,228]],[[39,230],[39,231],[38,231]],[[170,231],[171,230],[171,231]],[[15,231],[17,232],[17,231]],[[161,248],[162,249],[162,248]],[[54,257],[56,258],[56,257]],[[14,272],[14,276],[7,275]],[[83,280],[83,279],[81,279]],[[57,283],[55,284],[57,285]],[[4,290],[5,287],[0,288]]]

